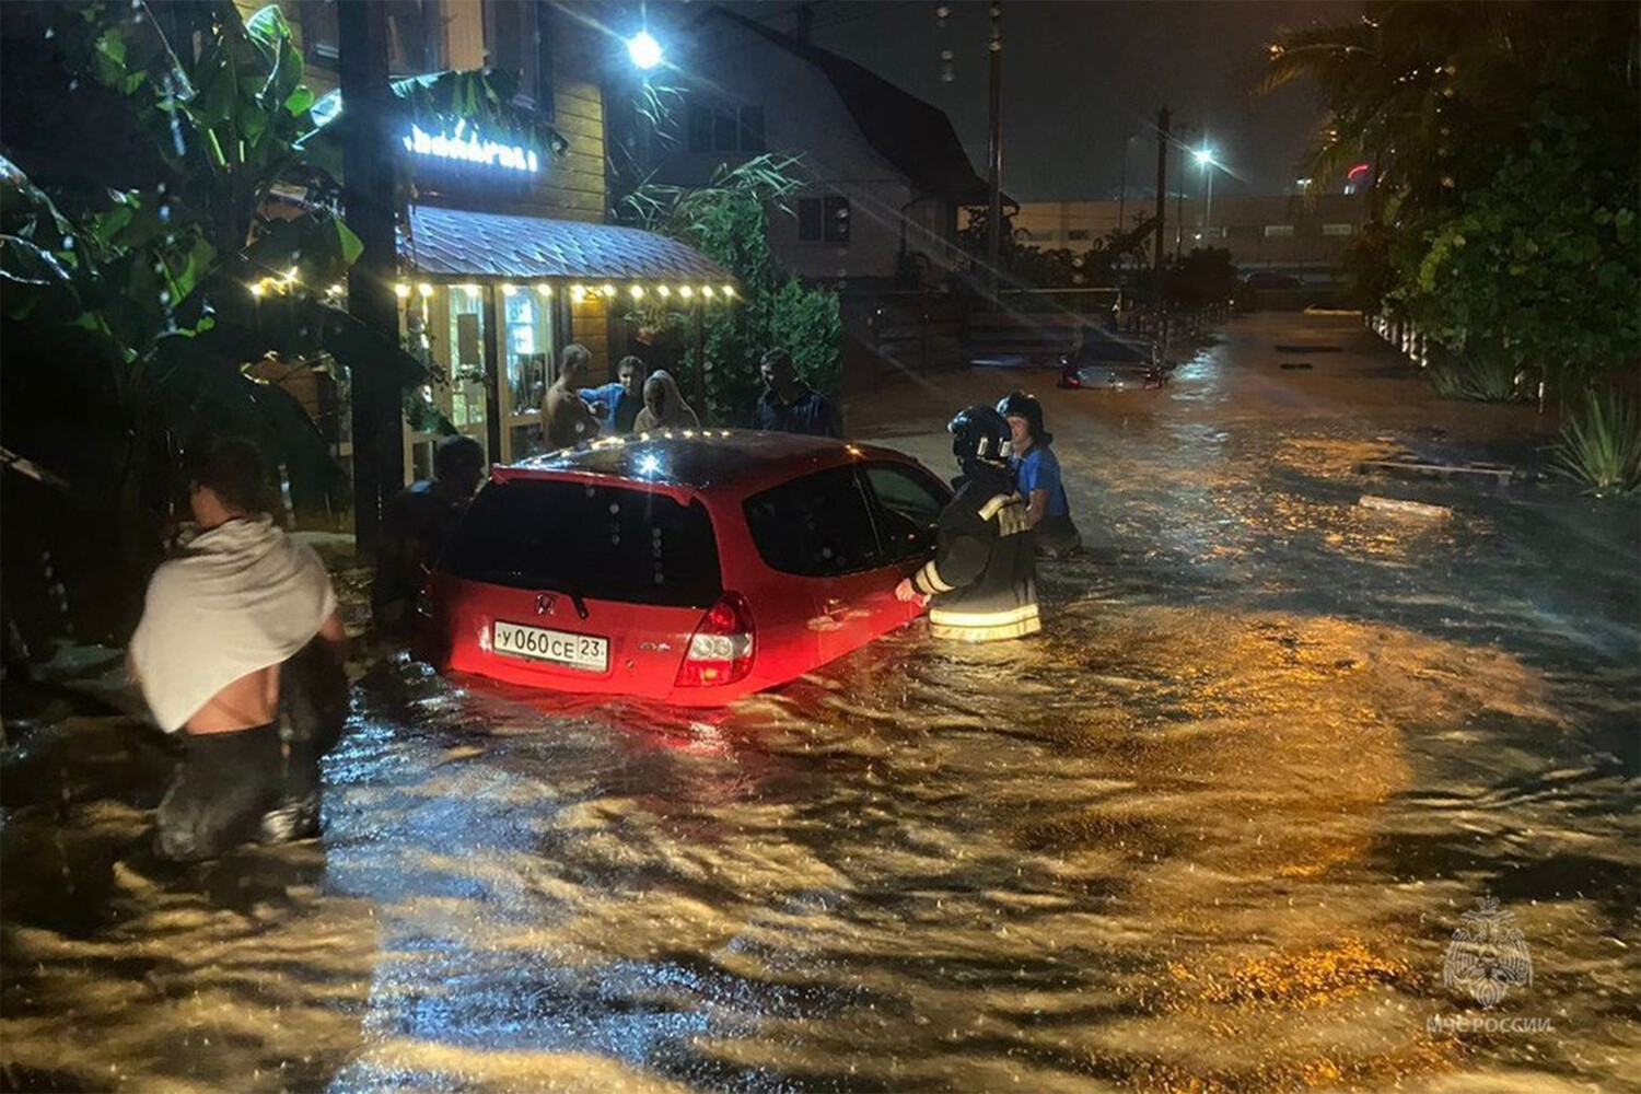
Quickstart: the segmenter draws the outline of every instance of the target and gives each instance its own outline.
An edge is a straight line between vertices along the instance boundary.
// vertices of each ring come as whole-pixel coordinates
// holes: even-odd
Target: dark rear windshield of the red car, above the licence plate
[[[711,607],[724,592],[699,500],[627,487],[509,479],[473,499],[440,569],[591,600]]]

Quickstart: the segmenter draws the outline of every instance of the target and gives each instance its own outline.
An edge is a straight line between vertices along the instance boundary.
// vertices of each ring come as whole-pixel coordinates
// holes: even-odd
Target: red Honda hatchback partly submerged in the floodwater
[[[433,572],[435,663],[719,705],[919,613],[947,485],[901,453],[693,430],[494,467]]]

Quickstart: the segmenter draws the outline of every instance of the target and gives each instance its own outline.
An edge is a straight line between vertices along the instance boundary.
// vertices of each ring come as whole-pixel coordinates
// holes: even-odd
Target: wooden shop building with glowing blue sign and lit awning
[[[281,0],[340,116],[336,3]],[[243,15],[261,5],[236,0]],[[394,134],[400,336],[428,369],[422,395],[492,463],[543,451],[542,400],[569,343],[592,353],[591,382],[614,376],[645,307],[730,307],[734,285],[691,248],[607,225],[604,80],[620,43],[545,0],[384,0],[389,71],[399,80],[501,69],[517,75],[507,108],[545,141],[494,139],[458,120],[412,116]],[[338,405],[345,405],[346,392]],[[405,422],[405,479],[432,474],[440,435]],[[351,459],[348,415],[336,454]]]

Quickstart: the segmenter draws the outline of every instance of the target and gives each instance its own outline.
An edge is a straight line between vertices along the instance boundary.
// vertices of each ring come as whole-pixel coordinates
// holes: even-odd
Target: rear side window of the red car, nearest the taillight
[[[784,574],[832,577],[883,566],[871,510],[853,467],[832,467],[747,499],[758,554]]]

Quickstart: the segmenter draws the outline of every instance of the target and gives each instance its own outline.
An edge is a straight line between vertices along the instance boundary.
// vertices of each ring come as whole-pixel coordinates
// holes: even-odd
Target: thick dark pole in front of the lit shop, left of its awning
[[[343,187],[348,228],[364,244],[348,271],[348,312],[399,344],[394,297],[394,146],[387,125],[387,18],[382,0],[336,5],[336,44],[343,100]],[[382,507],[404,485],[400,397],[392,374],[350,362],[353,399],[354,549],[369,558],[381,538]]]

